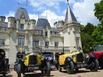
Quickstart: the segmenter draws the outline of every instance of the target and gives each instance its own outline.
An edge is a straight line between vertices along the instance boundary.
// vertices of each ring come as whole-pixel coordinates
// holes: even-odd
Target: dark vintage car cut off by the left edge
[[[0,49],[0,74],[5,76],[9,72],[9,59],[5,57],[5,51]]]

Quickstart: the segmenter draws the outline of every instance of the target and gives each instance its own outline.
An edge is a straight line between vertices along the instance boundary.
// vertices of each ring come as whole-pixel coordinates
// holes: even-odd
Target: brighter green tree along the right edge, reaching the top
[[[95,39],[95,44],[103,44],[103,0],[95,4],[95,16],[101,24],[97,26],[92,36]]]

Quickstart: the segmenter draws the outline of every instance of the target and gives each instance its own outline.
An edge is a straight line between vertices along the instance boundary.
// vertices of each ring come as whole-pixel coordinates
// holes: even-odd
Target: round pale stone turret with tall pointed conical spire
[[[59,22],[60,23],[60,22]],[[59,27],[61,24],[59,24]],[[80,39],[80,24],[77,22],[67,0],[67,10],[64,25],[60,27],[60,33],[64,37],[64,46],[69,47],[70,51],[82,48]]]

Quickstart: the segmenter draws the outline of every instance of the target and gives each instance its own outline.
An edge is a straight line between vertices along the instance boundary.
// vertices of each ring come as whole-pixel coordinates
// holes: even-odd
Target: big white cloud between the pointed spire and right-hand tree
[[[94,4],[99,2],[100,0],[84,0],[83,2],[76,2],[73,5],[73,11],[77,20],[82,24],[86,24],[88,22],[92,24],[97,24],[99,21],[94,16]]]

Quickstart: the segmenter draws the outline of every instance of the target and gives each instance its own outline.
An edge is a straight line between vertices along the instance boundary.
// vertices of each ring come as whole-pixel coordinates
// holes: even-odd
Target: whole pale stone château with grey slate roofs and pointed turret
[[[65,20],[56,21],[51,27],[48,19],[29,18],[25,8],[18,8],[14,17],[0,16],[0,48],[6,51],[10,64],[14,64],[16,53],[22,48],[30,52],[68,52],[82,48],[80,24],[77,22],[69,4]]]

